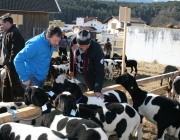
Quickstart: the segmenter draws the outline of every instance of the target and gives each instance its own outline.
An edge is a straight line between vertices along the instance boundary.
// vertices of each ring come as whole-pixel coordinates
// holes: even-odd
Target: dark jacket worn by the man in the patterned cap
[[[75,38],[76,39],[76,38]],[[75,59],[73,47],[75,39],[72,41],[70,50],[70,71],[75,71]],[[75,72],[74,72],[75,73]],[[83,76],[90,91],[101,92],[104,82],[104,58],[101,46],[91,40],[90,47],[84,52],[83,55]]]

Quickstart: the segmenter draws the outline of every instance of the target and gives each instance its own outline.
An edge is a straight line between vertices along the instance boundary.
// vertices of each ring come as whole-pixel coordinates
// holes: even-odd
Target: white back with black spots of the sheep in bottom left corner
[[[0,125],[0,140],[68,140],[60,132],[46,127],[34,127],[20,123]]]

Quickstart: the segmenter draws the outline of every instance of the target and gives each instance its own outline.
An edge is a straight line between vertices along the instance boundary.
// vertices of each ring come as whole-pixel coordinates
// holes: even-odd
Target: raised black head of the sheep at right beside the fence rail
[[[121,84],[126,90],[137,88],[136,79],[129,73],[120,75],[116,79],[116,84]]]

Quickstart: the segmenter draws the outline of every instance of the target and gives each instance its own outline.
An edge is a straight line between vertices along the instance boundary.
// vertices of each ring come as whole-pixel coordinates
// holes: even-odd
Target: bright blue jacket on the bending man
[[[46,40],[45,32],[28,40],[14,59],[20,80],[26,82],[29,80],[29,75],[33,75],[38,81],[44,81],[53,51],[54,47]]]

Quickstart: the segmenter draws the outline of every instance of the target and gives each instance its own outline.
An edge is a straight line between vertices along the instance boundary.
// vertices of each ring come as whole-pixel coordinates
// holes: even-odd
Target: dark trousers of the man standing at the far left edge
[[[2,101],[3,102],[12,102],[13,95],[22,96],[24,95],[24,90],[21,86],[19,76],[16,72],[14,64],[9,64],[4,66],[5,68],[5,77],[2,81]]]

